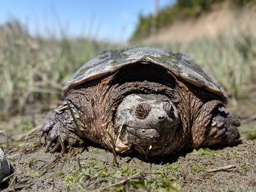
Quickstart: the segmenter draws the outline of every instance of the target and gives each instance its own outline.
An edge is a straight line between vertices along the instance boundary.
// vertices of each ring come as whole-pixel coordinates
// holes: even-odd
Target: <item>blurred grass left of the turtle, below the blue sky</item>
[[[69,77],[102,50],[116,47],[89,39],[31,37],[16,20],[0,26],[0,119],[26,104],[61,96]]]

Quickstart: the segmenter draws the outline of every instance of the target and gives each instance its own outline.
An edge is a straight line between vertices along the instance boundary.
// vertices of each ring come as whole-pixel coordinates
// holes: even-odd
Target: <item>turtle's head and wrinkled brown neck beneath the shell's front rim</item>
[[[83,120],[82,131],[89,135],[87,139],[113,148],[107,132],[116,139],[119,130],[115,146],[118,153],[176,153],[191,141],[189,95],[182,90],[187,87],[159,66],[140,67],[129,66],[94,82],[90,88],[77,89],[91,103],[91,109],[86,106],[90,115]]]

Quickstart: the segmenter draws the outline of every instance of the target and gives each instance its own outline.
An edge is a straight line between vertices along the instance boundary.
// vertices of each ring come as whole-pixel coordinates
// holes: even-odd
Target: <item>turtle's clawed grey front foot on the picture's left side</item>
[[[42,135],[47,140],[46,151],[54,153],[61,149],[61,142],[65,146],[78,145],[80,137],[79,130],[75,127],[77,123],[81,123],[78,110],[70,101],[64,101],[42,126]]]

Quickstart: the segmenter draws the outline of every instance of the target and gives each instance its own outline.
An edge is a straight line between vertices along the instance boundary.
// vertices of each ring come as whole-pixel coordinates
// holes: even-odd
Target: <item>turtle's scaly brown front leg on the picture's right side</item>
[[[225,147],[241,143],[240,122],[228,112],[221,101],[203,104],[192,125],[193,147]]]

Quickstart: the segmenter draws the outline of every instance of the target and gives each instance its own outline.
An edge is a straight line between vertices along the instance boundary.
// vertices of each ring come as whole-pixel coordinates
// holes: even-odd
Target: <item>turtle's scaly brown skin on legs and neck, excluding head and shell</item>
[[[150,72],[153,78],[154,71]],[[233,146],[241,142],[237,130],[240,123],[225,110],[222,99],[187,82],[177,80],[168,72],[156,71],[156,74],[162,74],[158,76],[157,82],[146,77],[138,77],[139,81],[135,81],[136,76],[129,76],[124,70],[70,90],[64,104],[42,127],[42,132],[48,140],[47,150],[55,152],[61,147],[59,134],[66,145],[77,145],[78,139],[75,138],[79,138],[89,139],[111,149],[113,145],[107,133],[116,138],[117,107],[132,93],[153,93],[169,97],[176,106],[180,124],[173,139],[167,140],[165,145],[155,145],[150,150],[148,146],[135,147],[121,135],[116,146],[118,153],[137,150],[139,153],[146,151],[147,155],[167,155],[189,148]],[[78,128],[67,103],[75,115]]]

